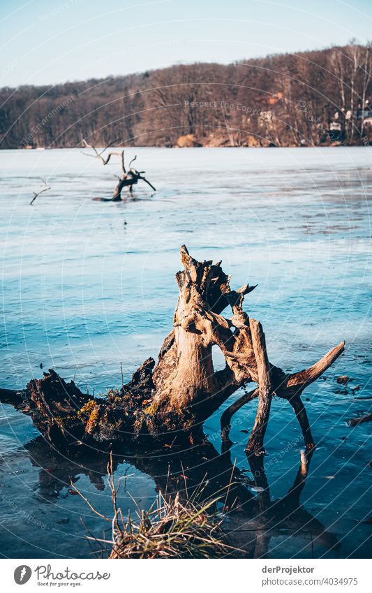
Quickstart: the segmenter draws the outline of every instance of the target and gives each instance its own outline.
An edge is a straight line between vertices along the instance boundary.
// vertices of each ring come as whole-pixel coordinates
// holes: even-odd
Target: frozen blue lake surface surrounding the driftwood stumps
[[[135,199],[100,203],[92,198],[110,198],[119,163],[103,167],[77,149],[0,152],[0,386],[24,387],[40,365],[96,393],[118,386],[120,363],[129,379],[156,358],[172,327],[180,245],[198,259],[222,260],[232,287],[258,284],[245,308],[262,322],[272,363],[299,370],[346,339],[326,380],[304,393],[319,448],[301,502],[338,544],[315,542],[310,552],[279,533],[267,555],[368,557],[371,425],[346,420],[371,407],[372,149],[140,148],[126,150],[126,161],[134,154],[158,191],[139,184]],[[52,189],[31,207],[44,176]],[[346,388],[336,382],[344,374],[352,378]],[[6,405],[0,412],[1,553],[88,557],[80,517],[93,531],[97,520],[68,488],[78,479],[110,513],[104,466],[80,471],[73,460],[56,461],[29,418]],[[220,415],[205,426],[218,451]],[[232,459],[241,469],[241,430],[254,416],[254,403],[235,416]],[[276,499],[290,488],[302,447],[283,400],[273,403],[266,446]],[[133,508],[128,492],[149,506],[154,476],[120,460],[115,475],[125,472],[123,510]]]

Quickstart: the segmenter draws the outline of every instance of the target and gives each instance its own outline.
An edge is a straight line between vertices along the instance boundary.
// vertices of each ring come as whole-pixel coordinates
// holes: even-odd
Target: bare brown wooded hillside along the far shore
[[[372,134],[370,45],[0,89],[0,147],[301,146]]]

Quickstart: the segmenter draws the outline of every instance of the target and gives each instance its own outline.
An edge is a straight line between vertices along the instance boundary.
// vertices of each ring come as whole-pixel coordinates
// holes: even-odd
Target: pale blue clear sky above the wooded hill
[[[0,0],[0,87],[365,43],[372,0]]]

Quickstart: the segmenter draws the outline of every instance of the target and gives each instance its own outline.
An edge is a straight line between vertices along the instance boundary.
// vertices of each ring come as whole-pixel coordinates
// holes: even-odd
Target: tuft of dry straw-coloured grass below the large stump
[[[97,539],[89,536],[101,546],[109,558],[216,558],[226,555],[232,548],[224,543],[221,529],[223,511],[217,511],[223,494],[201,502],[203,487],[181,500],[179,494],[168,496],[160,492],[149,510],[137,506],[135,518],[124,518],[117,506],[120,488],[114,483],[112,460],[107,465],[108,483],[112,495],[114,515],[107,518],[96,511],[89,501],[80,496],[99,517],[111,523],[112,538]],[[187,489],[186,489],[187,492]]]

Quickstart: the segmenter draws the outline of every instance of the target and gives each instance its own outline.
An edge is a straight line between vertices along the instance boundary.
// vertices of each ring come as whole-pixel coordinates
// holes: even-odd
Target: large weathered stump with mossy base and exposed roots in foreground
[[[345,342],[303,371],[285,374],[269,363],[265,335],[258,321],[243,310],[244,296],[255,286],[230,288],[221,262],[199,262],[181,247],[184,270],[176,274],[179,299],[173,328],[165,338],[158,363],[149,358],[121,390],[107,397],[83,394],[50,370],[22,392],[0,390],[0,400],[31,416],[46,439],[60,448],[73,444],[131,439],[161,439],[165,444],[203,439],[204,420],[247,383],[258,388],[244,394],[221,418],[222,437],[228,441],[232,414],[258,397],[258,411],[246,451],[264,452],[271,397],[290,402],[304,434],[306,449],[314,447],[302,391],[341,354]],[[232,316],[222,316],[230,307]],[[214,371],[212,346],[225,357],[225,368]]]

